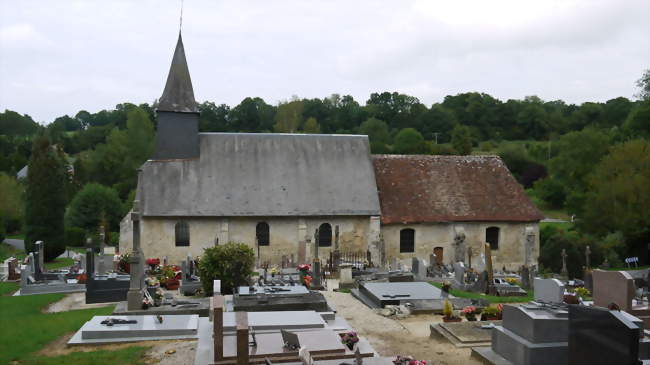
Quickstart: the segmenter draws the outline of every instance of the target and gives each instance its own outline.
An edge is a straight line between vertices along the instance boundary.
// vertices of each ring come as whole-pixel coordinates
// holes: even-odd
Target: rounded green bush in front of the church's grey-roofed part
[[[255,262],[255,252],[244,243],[228,242],[225,245],[203,250],[199,261],[199,275],[203,291],[212,295],[213,280],[221,280],[221,292],[231,294],[240,285],[247,285]]]

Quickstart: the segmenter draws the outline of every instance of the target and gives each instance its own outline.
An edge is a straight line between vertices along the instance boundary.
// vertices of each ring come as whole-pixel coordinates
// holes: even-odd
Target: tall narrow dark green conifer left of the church
[[[68,179],[63,152],[45,137],[34,140],[25,194],[25,249],[45,242],[45,260],[65,251],[63,215]]]

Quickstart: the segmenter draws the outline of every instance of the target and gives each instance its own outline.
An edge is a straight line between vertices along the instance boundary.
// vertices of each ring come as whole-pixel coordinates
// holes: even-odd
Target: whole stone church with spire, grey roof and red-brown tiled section
[[[180,34],[156,118],[136,193],[147,258],[234,241],[259,262],[304,263],[318,229],[322,259],[338,248],[376,265],[478,263],[489,242],[499,268],[537,263],[542,215],[498,157],[373,156],[362,135],[200,133]],[[127,214],[120,251],[131,240]]]

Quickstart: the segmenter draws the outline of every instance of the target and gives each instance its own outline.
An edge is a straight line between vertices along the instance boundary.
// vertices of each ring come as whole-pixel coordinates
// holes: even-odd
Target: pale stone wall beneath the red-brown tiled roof
[[[435,247],[443,248],[443,263],[449,264],[454,259],[455,232],[464,230],[465,247],[471,247],[474,252],[472,266],[480,260],[483,253],[482,245],[485,243],[485,230],[488,227],[499,227],[499,249],[492,251],[495,269],[502,269],[505,265],[508,270],[516,270],[524,264],[526,227],[530,227],[535,235],[532,257],[529,264],[537,264],[539,257],[539,225],[537,223],[508,223],[508,222],[481,222],[481,223],[422,223],[422,224],[390,224],[381,227],[385,242],[387,260],[393,257],[398,260],[420,257],[429,260]],[[412,228],[415,230],[415,252],[400,253],[400,230]],[[462,229],[461,229],[462,228]],[[529,230],[531,232],[531,230]],[[466,255],[467,262],[467,255]]]

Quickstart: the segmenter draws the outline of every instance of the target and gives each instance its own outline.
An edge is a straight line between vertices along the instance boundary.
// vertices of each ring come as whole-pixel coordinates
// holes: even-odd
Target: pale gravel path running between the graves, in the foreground
[[[327,301],[366,337],[382,356],[411,355],[419,360],[430,360],[433,365],[480,365],[470,358],[471,349],[456,348],[447,340],[429,338],[429,325],[440,322],[441,316],[427,314],[394,320],[376,314],[351,294],[323,292]]]

